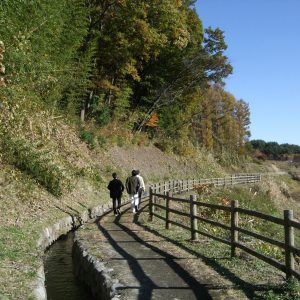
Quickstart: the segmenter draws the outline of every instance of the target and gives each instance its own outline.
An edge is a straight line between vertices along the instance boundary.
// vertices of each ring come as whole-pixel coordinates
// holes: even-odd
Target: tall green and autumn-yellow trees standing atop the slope
[[[147,132],[174,148],[242,155],[249,106],[224,90],[232,73],[224,32],[203,29],[194,3],[3,0],[2,96],[18,109]]]

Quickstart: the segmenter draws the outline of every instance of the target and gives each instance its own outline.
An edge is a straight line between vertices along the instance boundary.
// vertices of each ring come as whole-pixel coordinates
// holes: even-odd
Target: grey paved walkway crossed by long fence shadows
[[[127,207],[120,216],[110,213],[81,234],[122,283],[120,299],[246,299],[236,297],[232,284],[220,281],[199,258],[145,231],[136,223],[139,216]]]

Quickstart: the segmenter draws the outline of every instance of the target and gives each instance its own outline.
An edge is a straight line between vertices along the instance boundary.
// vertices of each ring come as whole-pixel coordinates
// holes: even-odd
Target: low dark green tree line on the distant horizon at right
[[[300,154],[300,146],[293,144],[278,144],[263,140],[251,140],[253,149],[260,151],[269,159],[287,159],[292,154]]]

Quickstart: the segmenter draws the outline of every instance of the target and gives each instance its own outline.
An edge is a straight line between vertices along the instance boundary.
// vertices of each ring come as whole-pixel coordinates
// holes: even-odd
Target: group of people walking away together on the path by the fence
[[[113,180],[111,180],[107,186],[110,191],[110,197],[113,202],[113,210],[115,215],[120,214],[121,198],[124,191],[124,185],[121,180],[117,178],[117,174],[112,174]],[[126,191],[131,201],[131,207],[133,213],[138,212],[139,205],[141,203],[142,194],[145,191],[145,183],[143,177],[140,175],[139,170],[132,170],[131,176],[126,179]]]

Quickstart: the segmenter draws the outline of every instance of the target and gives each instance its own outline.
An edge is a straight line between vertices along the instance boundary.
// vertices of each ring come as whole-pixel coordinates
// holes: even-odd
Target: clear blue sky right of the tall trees
[[[300,0],[197,0],[196,10],[225,32],[225,90],[249,103],[250,139],[300,145]]]

